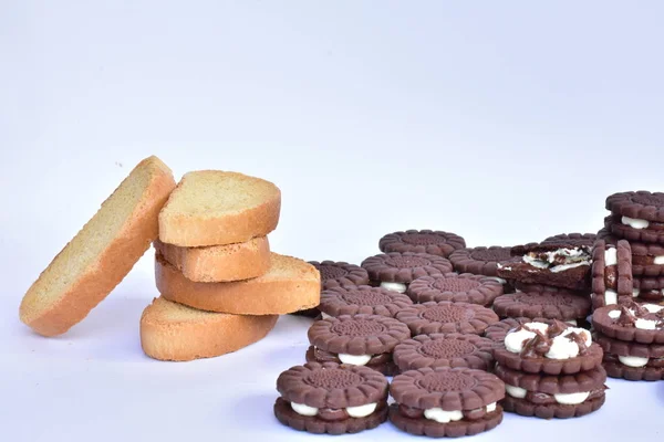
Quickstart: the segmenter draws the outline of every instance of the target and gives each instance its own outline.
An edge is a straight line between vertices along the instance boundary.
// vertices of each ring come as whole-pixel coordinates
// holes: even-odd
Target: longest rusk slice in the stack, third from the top
[[[168,301],[203,311],[239,315],[280,315],[319,305],[321,278],[315,267],[295,257],[271,255],[272,265],[262,276],[227,283],[197,283],[187,280],[157,253],[157,288]]]

